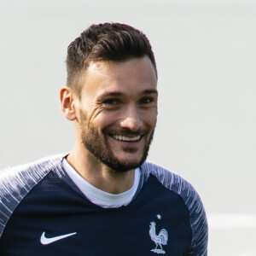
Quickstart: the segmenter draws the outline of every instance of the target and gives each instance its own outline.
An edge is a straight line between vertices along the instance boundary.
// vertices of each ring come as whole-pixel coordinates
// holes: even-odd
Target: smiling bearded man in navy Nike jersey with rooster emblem
[[[207,255],[195,189],[146,162],[157,70],[143,32],[92,25],[67,50],[69,154],[1,172],[1,255]]]

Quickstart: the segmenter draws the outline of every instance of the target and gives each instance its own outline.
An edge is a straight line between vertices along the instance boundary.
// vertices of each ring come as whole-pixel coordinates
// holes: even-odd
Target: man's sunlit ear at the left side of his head
[[[60,90],[60,100],[61,100],[61,111],[63,115],[73,121],[77,118],[76,116],[76,108],[74,104],[73,91],[64,86]]]

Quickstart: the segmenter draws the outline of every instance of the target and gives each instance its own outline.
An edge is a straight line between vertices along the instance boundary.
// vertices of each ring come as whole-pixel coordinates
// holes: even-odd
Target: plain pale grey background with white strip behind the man
[[[253,0],[0,0],[0,168],[72,148],[58,100],[67,45],[105,21],[137,27],[153,46],[160,99],[148,160],[200,193],[209,255],[256,255]]]

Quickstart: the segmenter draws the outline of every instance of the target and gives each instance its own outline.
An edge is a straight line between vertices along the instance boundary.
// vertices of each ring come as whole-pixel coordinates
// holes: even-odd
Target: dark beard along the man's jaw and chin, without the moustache
[[[81,117],[81,129],[82,129],[82,134],[81,134],[81,139],[82,143],[84,144],[84,148],[87,148],[91,154],[93,154],[97,160],[100,160],[103,164],[111,168],[114,172],[128,172],[132,169],[135,169],[139,166],[143,165],[143,162],[147,159],[148,157],[148,150],[150,143],[153,140],[154,137],[154,131],[150,134],[150,137],[148,139],[148,142],[146,143],[144,150],[143,150],[143,156],[142,159],[136,163],[131,163],[127,161],[119,161],[114,155],[109,147],[106,139],[104,138],[104,141],[99,141],[100,135],[96,131],[94,127],[88,127],[88,124],[86,124],[86,118],[83,113],[80,113]],[[87,127],[87,129],[84,129],[84,127]],[[132,133],[131,131],[127,131],[127,129],[123,129],[124,132],[123,134],[127,133]],[[106,135],[106,131],[103,131],[103,134]],[[134,132],[133,132],[134,134]],[[147,133],[144,135],[146,136]],[[106,135],[108,136],[108,135]]]

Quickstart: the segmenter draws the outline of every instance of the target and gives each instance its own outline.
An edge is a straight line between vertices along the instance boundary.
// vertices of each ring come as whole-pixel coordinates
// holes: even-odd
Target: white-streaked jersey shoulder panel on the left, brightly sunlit
[[[64,154],[49,156],[35,162],[0,171],[0,236],[20,201],[50,171],[61,175]]]

